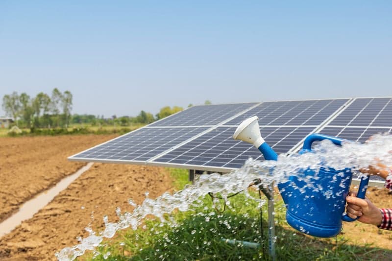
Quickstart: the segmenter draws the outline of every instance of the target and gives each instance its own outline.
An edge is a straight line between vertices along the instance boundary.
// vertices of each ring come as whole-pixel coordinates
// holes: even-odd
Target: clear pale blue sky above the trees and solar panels
[[[392,1],[0,0],[0,98],[55,87],[105,117],[392,96]]]

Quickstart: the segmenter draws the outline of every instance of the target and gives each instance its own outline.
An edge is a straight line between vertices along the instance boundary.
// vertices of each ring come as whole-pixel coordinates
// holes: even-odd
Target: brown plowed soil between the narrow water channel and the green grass
[[[96,163],[33,218],[2,237],[0,259],[55,260],[55,252],[89,235],[85,227],[102,231],[104,215],[115,222],[117,207],[132,211],[129,198],[141,204],[146,191],[155,198],[171,185],[164,168]]]

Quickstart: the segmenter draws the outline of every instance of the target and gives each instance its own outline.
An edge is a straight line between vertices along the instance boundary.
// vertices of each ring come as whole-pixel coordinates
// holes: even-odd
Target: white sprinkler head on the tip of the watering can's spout
[[[257,116],[253,116],[241,122],[241,124],[238,125],[236,131],[234,132],[234,140],[241,140],[244,142],[251,143],[257,148],[261,144],[263,144],[264,140],[260,134],[258,119],[259,118]]]

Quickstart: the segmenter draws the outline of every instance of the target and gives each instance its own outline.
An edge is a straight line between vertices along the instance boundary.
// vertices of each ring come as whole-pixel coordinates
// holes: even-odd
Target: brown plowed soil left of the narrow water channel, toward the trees
[[[67,157],[116,135],[0,139],[0,222],[85,163]]]

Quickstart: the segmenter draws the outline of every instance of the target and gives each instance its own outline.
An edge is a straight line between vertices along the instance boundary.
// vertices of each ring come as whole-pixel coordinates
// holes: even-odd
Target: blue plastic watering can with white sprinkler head
[[[235,140],[254,144],[263,153],[266,160],[277,160],[277,154],[264,141],[260,134],[256,116],[244,120],[233,135]],[[312,143],[330,140],[342,145],[343,139],[323,134],[309,135],[299,152],[311,153]],[[305,182],[306,179],[306,182]],[[315,237],[334,237],[342,230],[343,221],[355,221],[344,213],[352,180],[351,168],[334,169],[321,167],[316,173],[312,169],[303,169],[289,176],[288,181],[279,183],[279,192],[286,204],[286,220],[298,231]],[[362,177],[357,197],[365,198],[368,177]],[[313,186],[309,186],[309,184]],[[315,188],[322,188],[315,191]]]

